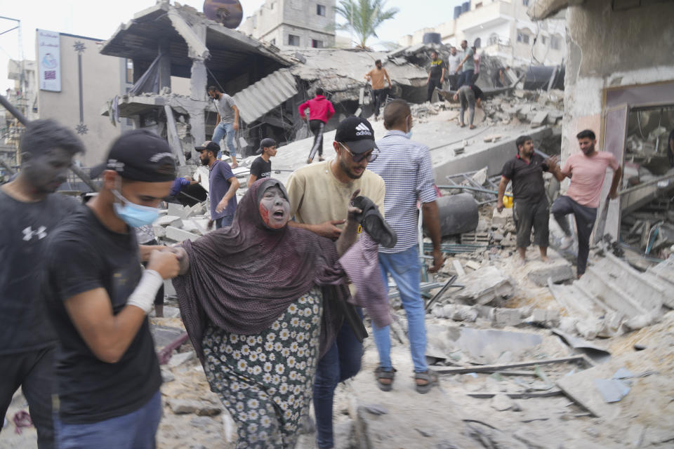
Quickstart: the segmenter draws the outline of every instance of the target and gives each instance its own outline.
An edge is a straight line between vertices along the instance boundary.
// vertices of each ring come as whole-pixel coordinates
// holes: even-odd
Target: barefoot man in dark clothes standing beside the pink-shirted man
[[[527,260],[527,246],[531,244],[531,228],[534,228],[534,244],[541,251],[541,260],[548,260],[548,197],[543,182],[543,172],[555,171],[555,158],[544,160],[534,152],[534,141],[529,135],[520,135],[515,140],[517,155],[506,162],[501,170],[501,184],[498,185],[496,210],[503,210],[503,195],[508,182],[513,182],[513,218],[517,231],[517,253],[520,264]]]

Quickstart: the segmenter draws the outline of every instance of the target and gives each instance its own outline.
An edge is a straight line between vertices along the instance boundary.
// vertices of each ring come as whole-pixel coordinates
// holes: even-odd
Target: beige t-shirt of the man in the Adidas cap
[[[360,189],[384,215],[386,188],[381,176],[370,170],[348,184],[340,182],[330,170],[331,161],[312,163],[295,170],[286,182],[290,196],[290,215],[306,225],[319,225],[329,220],[346,220],[351,195]],[[341,225],[340,227],[343,227]]]

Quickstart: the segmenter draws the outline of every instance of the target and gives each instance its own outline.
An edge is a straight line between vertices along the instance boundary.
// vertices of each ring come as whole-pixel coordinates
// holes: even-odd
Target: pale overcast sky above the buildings
[[[174,0],[171,0],[173,3]],[[244,18],[264,3],[263,0],[239,0],[244,8]],[[4,93],[13,87],[13,81],[7,80],[9,59],[21,57],[35,59],[35,29],[67,34],[77,34],[98,39],[108,39],[122,23],[126,23],[138,11],[149,8],[155,0],[0,0],[0,15],[21,21],[21,36],[15,27],[17,22],[0,19],[0,86]],[[186,4],[202,11],[203,0],[183,0]],[[370,46],[379,41],[397,40],[404,34],[411,34],[423,27],[435,27],[451,20],[454,6],[461,0],[388,0],[388,8],[398,8],[395,18],[384,22],[377,29],[379,39],[371,38]],[[423,4],[424,6],[419,6]],[[339,22],[339,18],[338,18]],[[338,32],[345,34],[348,32]],[[19,39],[23,45],[19,45]],[[22,48],[23,55],[20,53]]]

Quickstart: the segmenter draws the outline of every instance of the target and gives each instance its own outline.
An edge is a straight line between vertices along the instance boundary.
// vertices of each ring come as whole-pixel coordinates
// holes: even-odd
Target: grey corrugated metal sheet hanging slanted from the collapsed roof
[[[289,69],[279,69],[234,95],[239,115],[252,123],[297,94],[295,76]]]

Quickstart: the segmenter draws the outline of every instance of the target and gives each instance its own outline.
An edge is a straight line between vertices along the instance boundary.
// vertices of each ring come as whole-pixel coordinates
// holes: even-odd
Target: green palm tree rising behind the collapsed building
[[[377,27],[385,20],[394,18],[399,11],[398,8],[385,10],[386,0],[340,0],[339,3],[335,11],[345,18],[346,23],[338,25],[338,28],[355,32],[358,48],[366,48],[370,36],[378,37]]]

